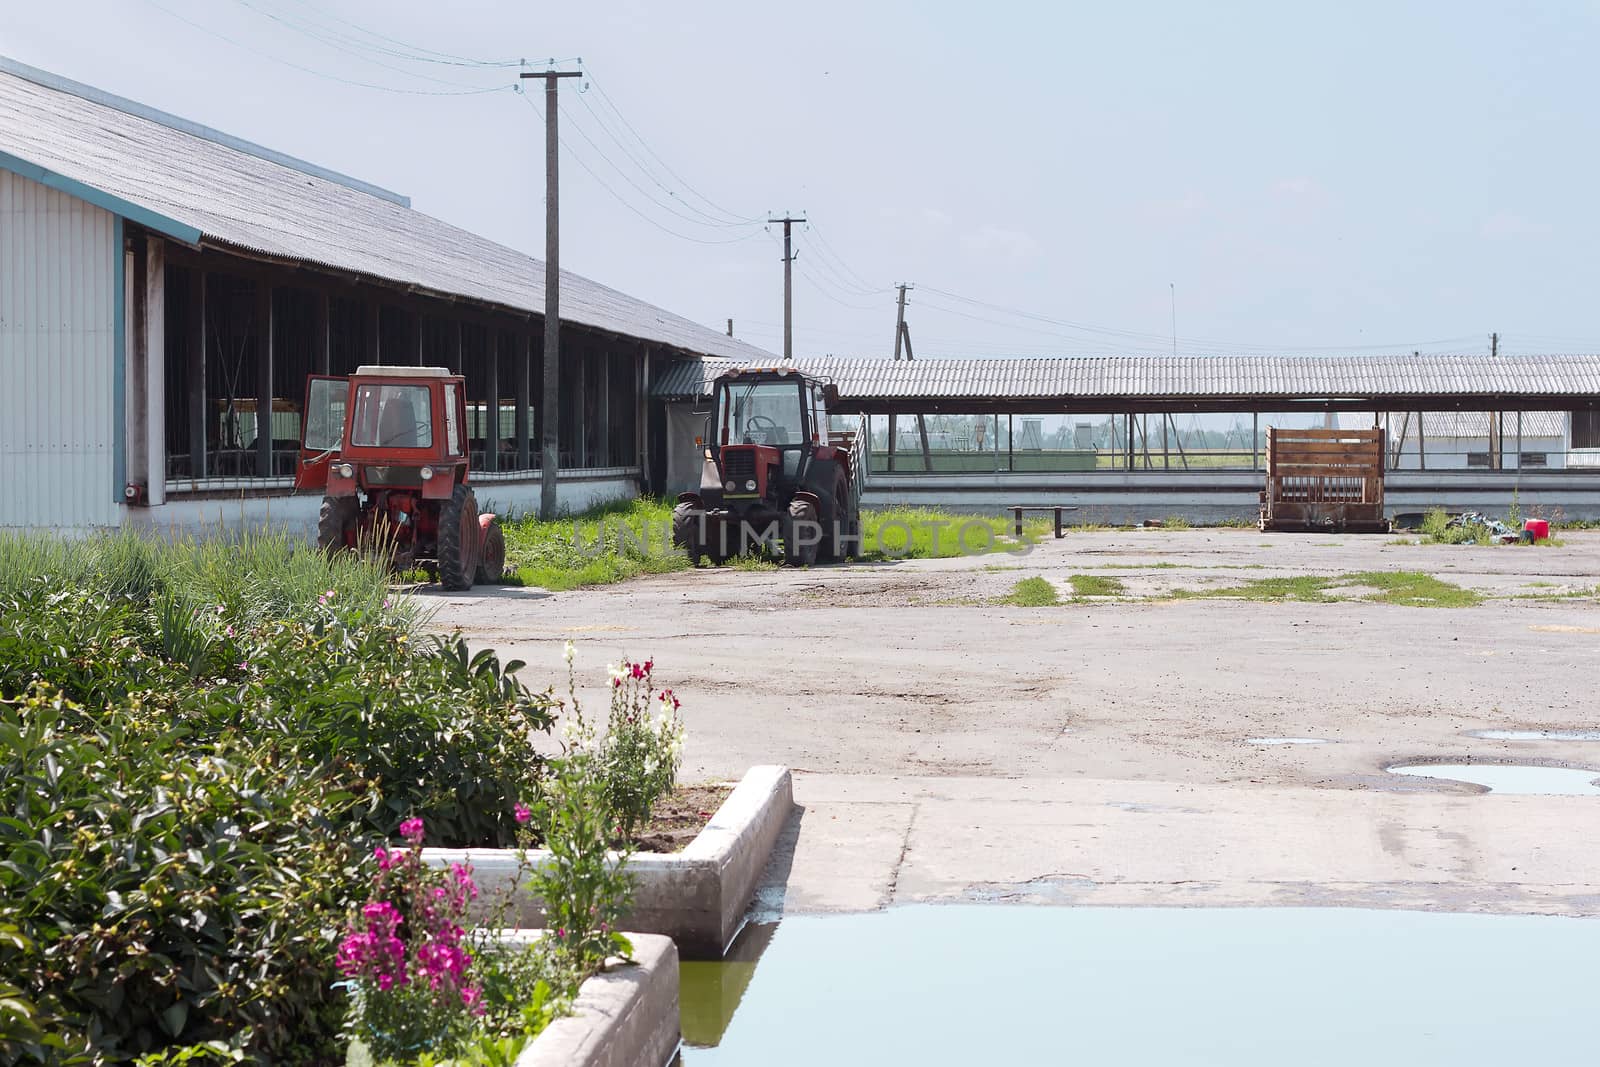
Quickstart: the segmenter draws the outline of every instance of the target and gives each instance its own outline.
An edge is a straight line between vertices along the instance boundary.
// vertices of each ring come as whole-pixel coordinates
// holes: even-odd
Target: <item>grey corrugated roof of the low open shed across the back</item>
[[[707,395],[730,360],[685,360],[662,374],[658,397]],[[843,398],[1019,400],[1341,398],[1600,394],[1594,355],[1094,355],[1008,360],[798,358]]]

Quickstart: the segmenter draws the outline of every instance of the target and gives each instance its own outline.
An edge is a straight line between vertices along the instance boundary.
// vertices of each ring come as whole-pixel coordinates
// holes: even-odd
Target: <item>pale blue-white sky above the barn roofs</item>
[[[346,83],[515,70],[416,62],[350,24],[467,58],[582,56],[682,178],[568,82],[563,266],[770,350],[779,246],[704,224],[696,194],[816,222],[797,234],[802,355],[886,355],[898,282],[918,286],[920,357],[1166,354],[1170,285],[1179,352],[1477,352],[1494,330],[1512,352],[1600,350],[1590,2],[10,0],[0,53],[542,254],[525,101]]]

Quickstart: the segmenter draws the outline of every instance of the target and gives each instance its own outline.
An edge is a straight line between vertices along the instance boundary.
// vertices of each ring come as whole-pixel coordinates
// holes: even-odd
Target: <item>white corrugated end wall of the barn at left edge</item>
[[[0,526],[118,523],[117,219],[0,170]]]

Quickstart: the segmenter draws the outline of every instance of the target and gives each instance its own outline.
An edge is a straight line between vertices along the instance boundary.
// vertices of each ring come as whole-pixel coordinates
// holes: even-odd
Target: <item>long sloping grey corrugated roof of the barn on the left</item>
[[[405,197],[0,59],[0,166],[3,155],[197,230],[200,243],[544,310],[544,262]],[[688,352],[774,358],[566,270],[562,318]]]

